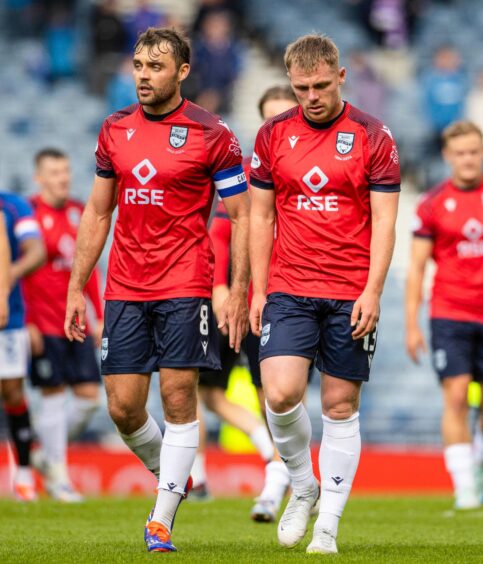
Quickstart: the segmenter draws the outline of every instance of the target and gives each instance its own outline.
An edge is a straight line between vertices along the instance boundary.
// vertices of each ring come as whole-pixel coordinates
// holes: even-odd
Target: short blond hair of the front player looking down
[[[288,71],[297,66],[302,71],[311,72],[320,63],[339,68],[339,49],[327,35],[303,35],[287,45],[283,61]]]

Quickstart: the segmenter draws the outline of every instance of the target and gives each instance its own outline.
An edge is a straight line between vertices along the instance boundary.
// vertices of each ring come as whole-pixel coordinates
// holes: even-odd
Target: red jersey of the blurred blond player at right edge
[[[462,190],[446,180],[423,194],[413,234],[433,241],[431,317],[483,323],[483,182]]]

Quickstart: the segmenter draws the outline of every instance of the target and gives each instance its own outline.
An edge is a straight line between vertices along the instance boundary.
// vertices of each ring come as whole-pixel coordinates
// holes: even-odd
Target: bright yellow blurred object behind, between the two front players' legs
[[[233,403],[242,405],[260,417],[257,390],[252,384],[250,372],[243,366],[235,366],[230,373],[226,397]],[[235,454],[257,452],[250,439],[235,427],[222,423],[219,443],[223,450]]]

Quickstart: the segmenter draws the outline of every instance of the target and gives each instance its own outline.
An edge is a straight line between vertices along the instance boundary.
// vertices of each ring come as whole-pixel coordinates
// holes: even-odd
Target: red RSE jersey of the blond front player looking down
[[[400,190],[388,127],[347,102],[324,124],[292,108],[260,129],[250,184],[275,190],[268,293],[357,299],[370,264],[370,192]]]

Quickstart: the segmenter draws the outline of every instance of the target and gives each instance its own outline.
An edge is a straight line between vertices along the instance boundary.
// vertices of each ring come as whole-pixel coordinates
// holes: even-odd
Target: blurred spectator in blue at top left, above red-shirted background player
[[[56,8],[45,31],[45,46],[49,60],[49,78],[56,82],[76,73],[75,29],[72,18],[64,8]]]

